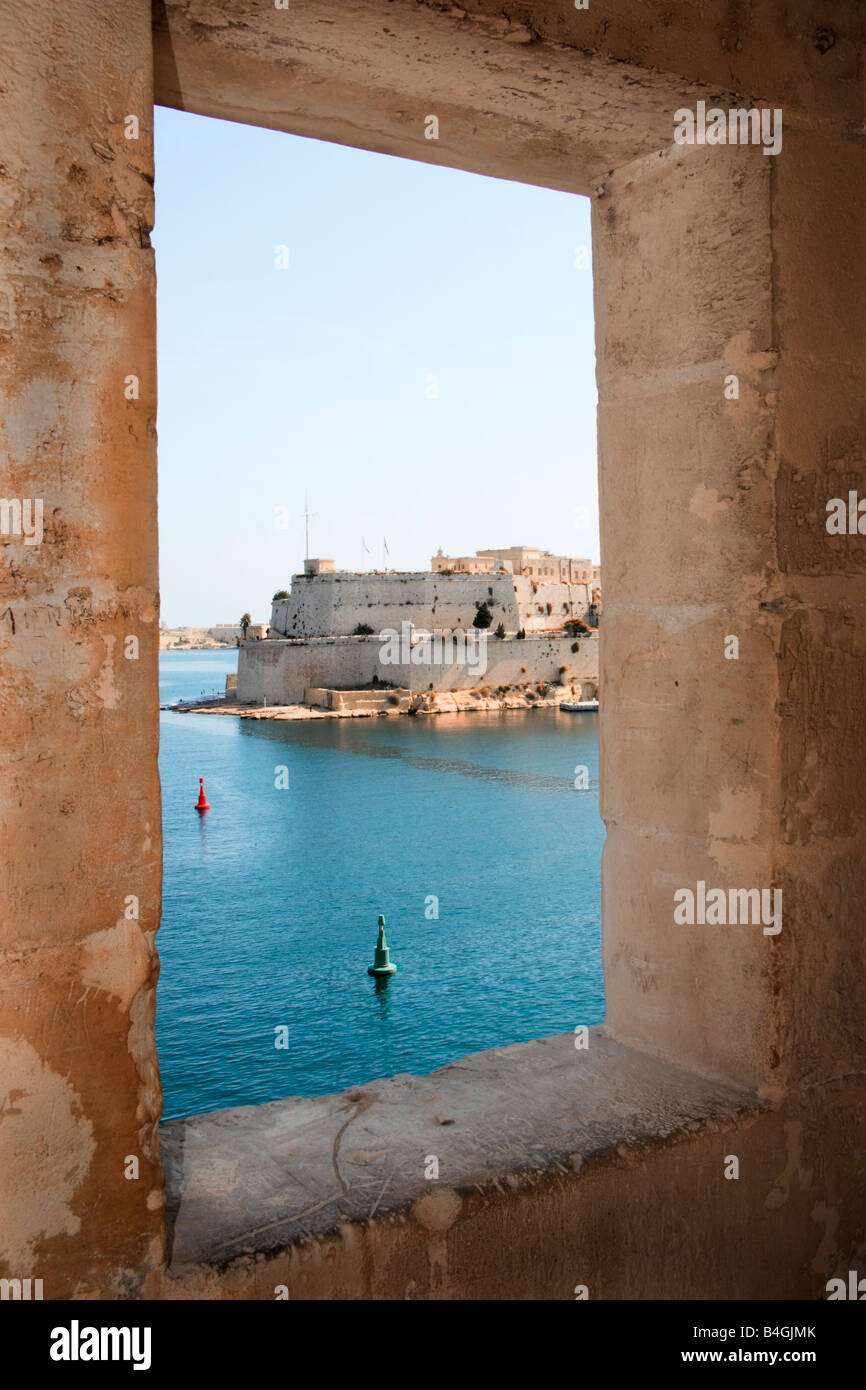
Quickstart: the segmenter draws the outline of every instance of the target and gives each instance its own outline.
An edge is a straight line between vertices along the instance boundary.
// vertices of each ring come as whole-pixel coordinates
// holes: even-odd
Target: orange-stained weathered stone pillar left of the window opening
[[[0,31],[0,1275],[129,1297],[163,1261],[150,4]]]

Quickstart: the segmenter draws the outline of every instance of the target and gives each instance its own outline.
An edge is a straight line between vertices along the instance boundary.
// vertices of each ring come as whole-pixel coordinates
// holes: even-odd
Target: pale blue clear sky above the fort
[[[304,489],[338,569],[598,560],[587,199],[161,108],[156,170],[170,626],[270,617]]]

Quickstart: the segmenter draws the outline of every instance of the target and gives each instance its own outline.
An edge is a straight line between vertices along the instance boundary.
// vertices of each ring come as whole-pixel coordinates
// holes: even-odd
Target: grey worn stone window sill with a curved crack
[[[677,1143],[765,1106],[591,1030],[475,1052],[430,1076],[214,1111],[161,1127],[172,1270],[303,1243],[431,1191],[499,1191]],[[427,1155],[439,1180],[424,1177]]]

